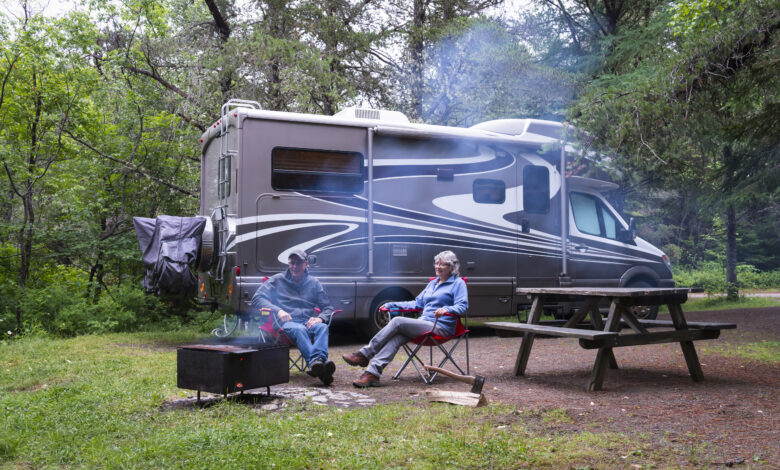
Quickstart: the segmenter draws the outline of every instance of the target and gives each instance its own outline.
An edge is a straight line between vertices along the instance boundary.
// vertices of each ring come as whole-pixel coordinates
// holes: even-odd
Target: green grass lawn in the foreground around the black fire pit
[[[0,342],[0,467],[627,468],[679,463],[650,436],[589,431],[565,410],[399,402],[168,410],[196,333]],[[594,429],[600,429],[594,427]]]

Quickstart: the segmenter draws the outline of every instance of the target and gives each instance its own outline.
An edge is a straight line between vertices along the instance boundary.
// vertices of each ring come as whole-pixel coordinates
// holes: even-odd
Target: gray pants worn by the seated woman
[[[382,370],[395,357],[395,353],[405,343],[423,333],[431,331],[432,322],[417,318],[395,317],[382,328],[371,341],[360,349],[361,354],[371,360],[366,370],[375,376],[382,375]],[[436,325],[436,334],[443,331]]]

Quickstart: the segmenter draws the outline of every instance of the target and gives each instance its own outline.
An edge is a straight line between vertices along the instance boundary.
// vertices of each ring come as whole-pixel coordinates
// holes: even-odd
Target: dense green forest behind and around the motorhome
[[[198,138],[233,98],[566,120],[600,155],[571,170],[621,185],[611,199],[678,285],[778,288],[778,26],[771,0],[6,5],[0,337],[203,315],[143,292],[132,218],[197,214]]]

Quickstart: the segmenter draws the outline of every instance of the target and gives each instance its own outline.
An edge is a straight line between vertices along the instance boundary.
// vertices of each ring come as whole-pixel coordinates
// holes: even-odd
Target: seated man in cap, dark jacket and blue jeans
[[[312,377],[325,385],[333,382],[336,364],[328,360],[328,325],[333,306],[322,284],[309,276],[308,257],[293,250],[287,259],[287,271],[273,275],[252,297],[253,308],[268,308],[301,351]],[[314,308],[319,308],[319,315]]]

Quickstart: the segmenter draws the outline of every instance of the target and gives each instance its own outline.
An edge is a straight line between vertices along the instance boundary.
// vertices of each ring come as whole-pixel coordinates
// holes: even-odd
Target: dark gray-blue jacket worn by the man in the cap
[[[314,307],[321,310],[319,314]],[[293,321],[306,323],[310,317],[320,317],[327,323],[333,315],[333,306],[328,294],[317,278],[309,276],[307,269],[301,282],[292,280],[290,270],[274,274],[265,281],[252,297],[252,308],[269,308],[274,318],[279,320],[279,310],[289,313]]]

